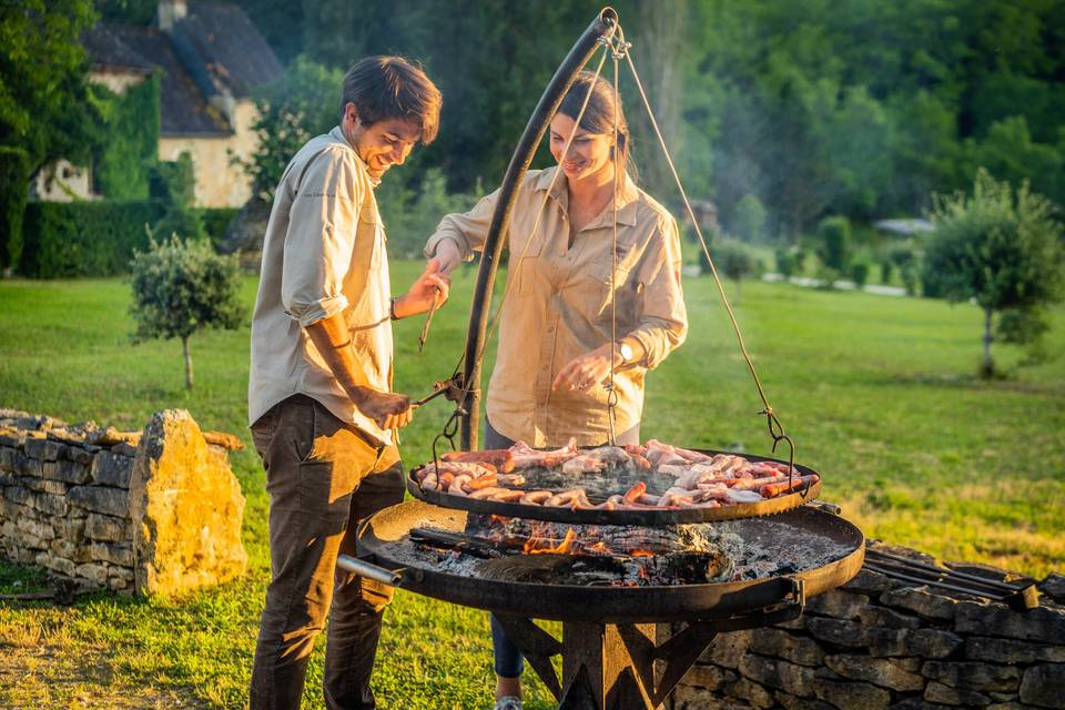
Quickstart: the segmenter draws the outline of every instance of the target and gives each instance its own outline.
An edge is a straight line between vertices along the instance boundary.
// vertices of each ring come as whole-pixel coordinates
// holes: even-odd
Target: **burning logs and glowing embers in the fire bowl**
[[[734,536],[731,536],[734,538]],[[467,517],[463,534],[418,529],[419,545],[479,560],[479,575],[578,586],[676,586],[726,581],[739,539],[714,539],[703,525],[568,526],[496,515]]]

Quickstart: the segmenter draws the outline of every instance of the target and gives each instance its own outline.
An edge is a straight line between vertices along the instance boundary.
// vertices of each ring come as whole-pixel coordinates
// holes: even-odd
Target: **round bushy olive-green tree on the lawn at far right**
[[[949,301],[973,300],[983,310],[981,373],[991,376],[994,316],[1017,311],[1031,321],[1043,305],[1062,297],[1063,230],[1049,201],[1031,192],[1027,182],[1014,191],[983,169],[972,194],[937,195],[934,204],[925,280]]]

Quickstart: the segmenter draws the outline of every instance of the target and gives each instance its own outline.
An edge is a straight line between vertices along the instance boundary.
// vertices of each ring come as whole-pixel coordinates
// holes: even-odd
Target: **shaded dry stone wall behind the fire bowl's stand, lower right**
[[[1006,577],[985,566],[966,571]],[[672,708],[1065,709],[1063,582],[1051,575],[1039,585],[1039,608],[1015,611],[863,569],[809,599],[794,621],[718,636]]]

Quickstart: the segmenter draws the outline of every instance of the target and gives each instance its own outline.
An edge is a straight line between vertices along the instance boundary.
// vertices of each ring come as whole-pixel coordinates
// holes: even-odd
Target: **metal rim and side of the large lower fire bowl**
[[[513,582],[440,571],[430,561],[416,559],[409,531],[435,527],[463,532],[467,514],[408,500],[365,519],[358,528],[359,557],[395,572],[403,589],[444,601],[534,619],[597,623],[655,623],[728,617],[822,594],[858,575],[865,558],[865,538],[854,525],[831,513],[804,506],[772,518],[794,529],[778,536],[761,520],[739,521],[744,541],[757,541],[787,555],[797,536],[814,536],[841,548],[831,561],[785,577],[750,581],[674,587],[599,587]],[[773,528],[779,532],[779,528]],[[791,538],[791,539],[783,539]],[[799,597],[803,595],[800,594]]]

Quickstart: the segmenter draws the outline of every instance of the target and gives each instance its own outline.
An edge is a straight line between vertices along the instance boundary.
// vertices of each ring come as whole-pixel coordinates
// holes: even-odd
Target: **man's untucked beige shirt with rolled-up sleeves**
[[[385,230],[366,164],[337,126],[304,145],[277,185],[263,243],[252,317],[248,420],[294,394],[316,399],[377,442],[304,331],[343,314],[366,385],[392,387],[392,322]]]

